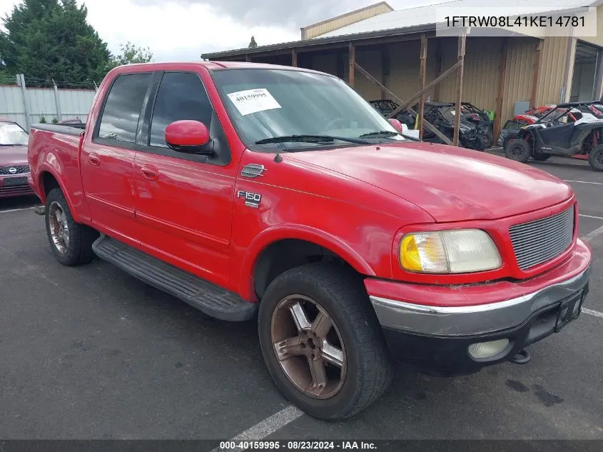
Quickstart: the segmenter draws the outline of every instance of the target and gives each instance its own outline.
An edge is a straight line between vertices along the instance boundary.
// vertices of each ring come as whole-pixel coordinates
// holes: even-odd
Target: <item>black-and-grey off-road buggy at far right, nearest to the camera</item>
[[[557,105],[534,124],[523,126],[515,139],[505,143],[507,159],[544,161],[550,156],[588,160],[594,171],[603,171],[603,119],[593,102]]]

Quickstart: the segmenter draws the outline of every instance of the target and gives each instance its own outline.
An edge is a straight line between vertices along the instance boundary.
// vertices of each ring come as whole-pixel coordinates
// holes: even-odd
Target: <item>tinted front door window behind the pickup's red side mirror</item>
[[[210,129],[213,109],[203,83],[196,74],[167,72],[157,92],[151,120],[151,146],[168,147],[166,126],[173,121],[193,119]]]

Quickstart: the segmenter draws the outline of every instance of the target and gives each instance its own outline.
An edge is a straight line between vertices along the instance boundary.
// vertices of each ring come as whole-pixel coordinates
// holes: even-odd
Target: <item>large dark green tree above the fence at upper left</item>
[[[76,0],[24,0],[14,6],[2,19],[0,68],[26,74],[29,85],[100,81],[111,66],[111,53],[87,15]]]

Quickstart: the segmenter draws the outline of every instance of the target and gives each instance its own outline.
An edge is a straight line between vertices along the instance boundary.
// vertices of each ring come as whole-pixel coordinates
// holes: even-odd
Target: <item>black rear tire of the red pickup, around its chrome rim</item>
[[[51,223],[54,224],[54,219],[51,219],[51,215],[54,214],[57,208],[60,208],[64,213],[64,222],[67,225],[67,231],[69,231],[69,240],[63,241],[61,246],[56,243],[51,231]],[[69,205],[61,189],[52,189],[48,196],[46,196],[44,220],[50,247],[57,261],[65,266],[76,266],[92,260],[94,256],[92,243],[98,238],[98,232],[93,228],[74,221],[74,217],[71,216]]]

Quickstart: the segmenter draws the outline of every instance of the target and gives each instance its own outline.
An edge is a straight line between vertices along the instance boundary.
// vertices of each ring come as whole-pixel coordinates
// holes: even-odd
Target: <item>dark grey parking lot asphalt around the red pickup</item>
[[[603,228],[602,173],[530,164],[572,181],[581,236]],[[532,361],[457,378],[399,365],[373,406],[325,423],[288,408],[253,321],[208,318],[103,261],[59,265],[34,202],[0,200],[0,438],[603,439],[603,233],[589,313]]]

